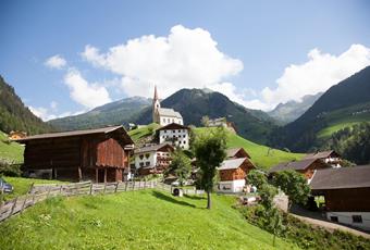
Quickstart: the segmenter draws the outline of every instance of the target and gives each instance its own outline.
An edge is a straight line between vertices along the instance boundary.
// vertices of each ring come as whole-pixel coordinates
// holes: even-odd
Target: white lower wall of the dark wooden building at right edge
[[[353,215],[361,215],[362,223],[354,223]],[[331,216],[337,216],[338,223],[370,230],[370,212],[326,212],[329,221],[331,221]]]

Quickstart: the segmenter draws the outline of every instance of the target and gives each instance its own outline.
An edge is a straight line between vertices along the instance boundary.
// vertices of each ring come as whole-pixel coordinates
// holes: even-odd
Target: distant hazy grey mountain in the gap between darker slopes
[[[268,114],[281,124],[287,124],[303,115],[320,97],[322,92],[304,96],[301,101],[288,101],[280,103]]]

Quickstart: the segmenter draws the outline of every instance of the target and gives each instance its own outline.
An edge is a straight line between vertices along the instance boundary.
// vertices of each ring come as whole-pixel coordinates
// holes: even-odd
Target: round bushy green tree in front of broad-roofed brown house
[[[303,174],[295,171],[278,172],[272,178],[272,184],[288,196],[288,208],[292,207],[292,203],[306,204],[310,187]]]

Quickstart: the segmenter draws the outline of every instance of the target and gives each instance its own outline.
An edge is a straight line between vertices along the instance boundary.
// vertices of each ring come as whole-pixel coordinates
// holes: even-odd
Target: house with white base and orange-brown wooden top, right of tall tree
[[[224,160],[219,170],[220,192],[242,192],[246,185],[246,177],[255,165],[248,158],[236,158]]]

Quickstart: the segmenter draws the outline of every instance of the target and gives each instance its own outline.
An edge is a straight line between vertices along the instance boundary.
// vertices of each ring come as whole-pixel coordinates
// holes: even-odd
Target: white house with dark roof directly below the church
[[[189,129],[187,126],[171,123],[157,129],[159,143],[169,142],[173,147],[189,149]]]

